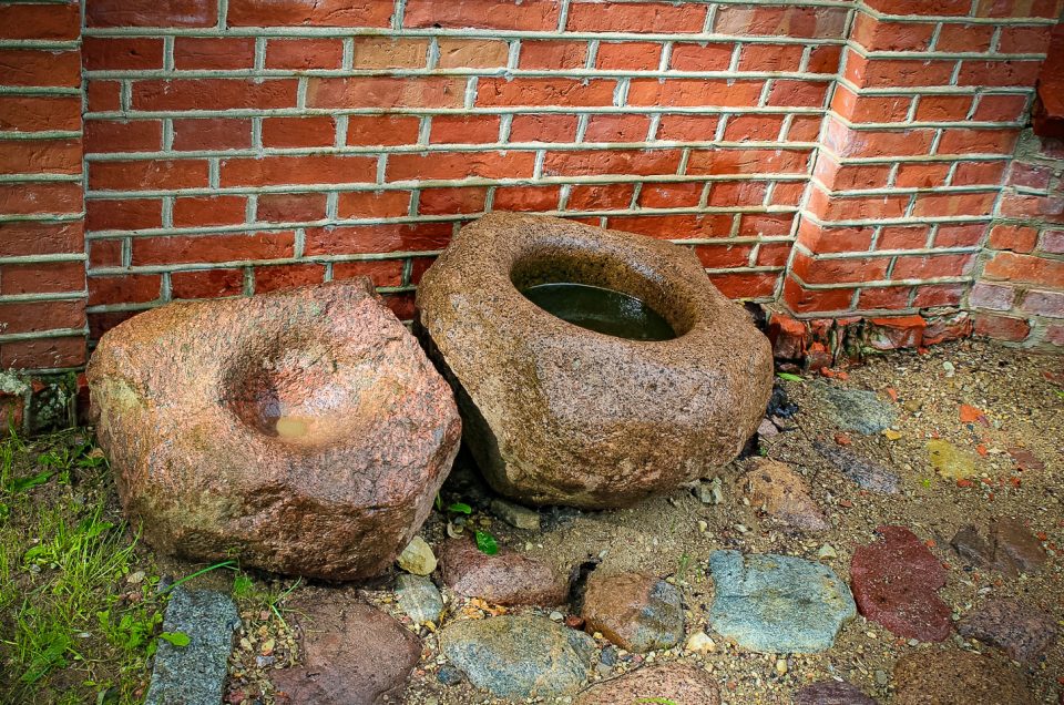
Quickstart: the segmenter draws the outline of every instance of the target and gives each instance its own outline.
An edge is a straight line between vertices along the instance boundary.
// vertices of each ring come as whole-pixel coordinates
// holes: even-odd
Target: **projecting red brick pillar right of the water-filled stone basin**
[[[1060,4],[858,6],[784,285],[792,313],[960,306]]]

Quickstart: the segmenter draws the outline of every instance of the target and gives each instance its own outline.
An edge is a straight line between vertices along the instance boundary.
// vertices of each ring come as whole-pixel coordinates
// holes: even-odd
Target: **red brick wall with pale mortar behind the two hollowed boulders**
[[[956,310],[992,223],[1016,224],[1009,194],[1030,195],[1002,186],[1061,6],[86,0],[85,243],[74,215],[49,267],[88,258],[91,338],[168,300],[358,274],[408,317],[462,222],[526,210],[688,244],[727,295],[799,317]],[[23,39],[0,47],[28,73],[41,62]],[[50,52],[76,49],[76,27],[48,41],[31,51],[65,76]],[[57,80],[76,95],[75,75]],[[78,126],[32,129],[73,144]],[[7,198],[0,219],[21,218]],[[0,263],[28,239],[8,237]],[[1058,292],[1050,269],[1037,287]],[[34,295],[81,286],[66,284]],[[0,345],[76,340],[61,336],[80,333],[85,302],[50,302],[59,321],[11,296],[30,329]],[[48,343],[25,338],[42,326]],[[1029,341],[1054,339],[1050,326]]]

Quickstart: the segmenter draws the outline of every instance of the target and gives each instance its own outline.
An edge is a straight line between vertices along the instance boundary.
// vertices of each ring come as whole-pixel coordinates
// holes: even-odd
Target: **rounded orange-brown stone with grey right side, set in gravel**
[[[601,632],[614,644],[636,653],[668,648],[684,637],[679,591],[645,573],[592,573],[581,616],[589,632]]]

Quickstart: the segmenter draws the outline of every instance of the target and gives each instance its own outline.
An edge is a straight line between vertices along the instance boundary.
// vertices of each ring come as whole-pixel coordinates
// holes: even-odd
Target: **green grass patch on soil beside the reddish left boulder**
[[[0,702],[143,697],[165,597],[88,438],[0,439]]]

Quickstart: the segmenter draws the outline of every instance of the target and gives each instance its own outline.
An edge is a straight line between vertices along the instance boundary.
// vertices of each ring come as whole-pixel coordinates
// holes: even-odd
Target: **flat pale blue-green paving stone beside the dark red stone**
[[[857,612],[850,591],[830,568],[771,553],[714,551],[716,595],[709,623],[744,648],[814,653],[831,647]]]

